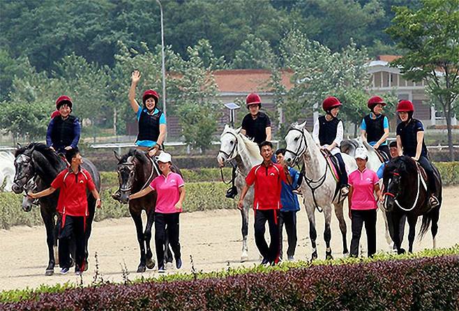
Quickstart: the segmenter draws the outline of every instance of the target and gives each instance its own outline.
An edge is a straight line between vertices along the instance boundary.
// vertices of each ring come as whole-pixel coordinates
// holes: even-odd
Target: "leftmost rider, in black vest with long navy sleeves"
[[[58,153],[65,153],[75,149],[80,140],[81,126],[76,116],[71,116],[72,99],[68,96],[59,96],[56,100],[56,109],[46,131],[46,144]]]

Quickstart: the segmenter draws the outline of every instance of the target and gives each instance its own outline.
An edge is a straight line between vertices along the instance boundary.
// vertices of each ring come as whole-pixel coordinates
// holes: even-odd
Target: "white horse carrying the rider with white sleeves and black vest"
[[[317,259],[317,248],[315,240],[317,232],[315,229],[315,209],[321,211],[322,208],[325,218],[324,240],[326,243],[326,259],[333,259],[331,255],[331,209],[335,207],[335,214],[338,218],[340,231],[343,235],[343,254],[349,253],[346,241],[346,222],[343,215],[343,200],[340,195],[336,195],[338,187],[336,180],[331,174],[326,159],[322,155],[317,144],[315,144],[310,132],[306,129],[306,121],[299,124],[293,123],[285,136],[287,147],[284,158],[288,165],[296,165],[301,159],[304,165],[304,180],[301,183],[301,192],[303,192],[304,206],[308,213],[309,236],[313,248],[312,259]],[[357,169],[355,160],[347,154],[343,154],[343,160],[347,172]],[[303,169],[302,169],[303,170]]]

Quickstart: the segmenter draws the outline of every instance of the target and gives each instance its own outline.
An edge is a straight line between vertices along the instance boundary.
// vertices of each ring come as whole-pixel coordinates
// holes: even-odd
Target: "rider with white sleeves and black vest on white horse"
[[[343,140],[343,121],[337,118],[340,112],[340,107],[343,106],[338,98],[329,96],[322,103],[322,108],[326,112],[324,116],[319,116],[319,119],[314,123],[313,139],[320,149],[330,151],[335,155],[340,165],[340,181],[339,188],[341,195],[347,195],[347,172],[345,162],[340,153],[340,144]]]

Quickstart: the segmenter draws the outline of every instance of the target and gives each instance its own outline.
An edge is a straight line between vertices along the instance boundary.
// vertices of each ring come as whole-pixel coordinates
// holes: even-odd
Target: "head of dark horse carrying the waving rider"
[[[116,172],[118,173],[119,191],[121,192],[120,197],[114,197],[114,199],[117,199],[122,204],[128,203],[128,197],[135,183],[137,165],[137,159],[135,158],[136,152],[135,150],[130,150],[126,155],[123,155],[123,157],[120,157],[118,153],[114,152],[115,158],[118,160]]]

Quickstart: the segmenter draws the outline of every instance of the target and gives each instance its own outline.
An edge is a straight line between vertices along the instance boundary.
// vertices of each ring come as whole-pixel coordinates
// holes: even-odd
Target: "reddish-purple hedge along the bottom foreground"
[[[355,262],[355,261],[354,261]],[[263,273],[260,273],[263,272]],[[459,256],[252,268],[224,278],[60,290],[3,310],[458,310]]]

